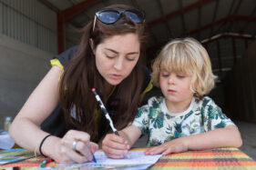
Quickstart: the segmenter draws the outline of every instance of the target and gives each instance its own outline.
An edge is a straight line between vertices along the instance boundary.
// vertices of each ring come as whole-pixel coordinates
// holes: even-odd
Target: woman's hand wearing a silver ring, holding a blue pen
[[[98,145],[90,142],[87,133],[70,130],[56,143],[55,154],[52,157],[58,163],[84,163],[92,161],[97,149]]]

